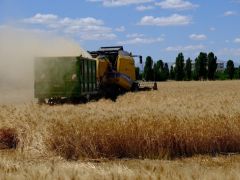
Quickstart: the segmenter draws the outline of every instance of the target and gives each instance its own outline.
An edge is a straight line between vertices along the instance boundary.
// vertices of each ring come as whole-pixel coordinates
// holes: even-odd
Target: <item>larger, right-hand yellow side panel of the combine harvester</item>
[[[118,56],[117,72],[125,74],[131,78],[132,81],[136,80],[134,59],[129,56]]]

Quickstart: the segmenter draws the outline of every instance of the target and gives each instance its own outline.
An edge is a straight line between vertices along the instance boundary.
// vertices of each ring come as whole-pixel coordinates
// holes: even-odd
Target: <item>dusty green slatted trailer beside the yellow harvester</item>
[[[35,98],[81,98],[97,93],[94,59],[41,57],[35,59],[34,68]]]

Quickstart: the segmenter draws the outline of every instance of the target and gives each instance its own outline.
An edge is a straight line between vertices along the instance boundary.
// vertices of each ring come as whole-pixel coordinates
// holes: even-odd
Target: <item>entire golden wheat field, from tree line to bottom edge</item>
[[[158,86],[116,102],[2,103],[0,179],[239,179],[240,81]]]

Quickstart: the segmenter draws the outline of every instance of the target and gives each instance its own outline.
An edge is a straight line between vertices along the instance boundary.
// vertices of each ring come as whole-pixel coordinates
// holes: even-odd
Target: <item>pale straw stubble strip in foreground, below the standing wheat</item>
[[[21,154],[1,156],[0,179],[161,179],[239,180],[240,156],[194,157],[168,160],[65,161],[54,157],[23,158]]]

